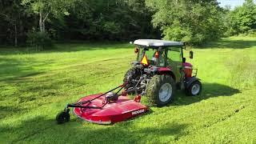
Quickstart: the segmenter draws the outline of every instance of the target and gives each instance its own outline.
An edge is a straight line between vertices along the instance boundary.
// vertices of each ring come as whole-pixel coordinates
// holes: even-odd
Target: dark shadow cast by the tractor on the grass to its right
[[[195,102],[200,102],[208,98],[214,98],[219,96],[232,96],[240,93],[240,90],[234,89],[230,86],[225,86],[218,83],[202,83],[202,92],[200,95],[191,97],[186,96],[183,90],[179,90],[174,102],[170,104],[175,106],[190,105]]]

